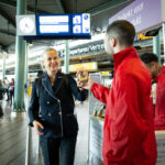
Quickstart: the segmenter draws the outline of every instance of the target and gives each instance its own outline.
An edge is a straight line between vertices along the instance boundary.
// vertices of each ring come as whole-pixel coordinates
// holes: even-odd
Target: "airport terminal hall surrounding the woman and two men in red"
[[[58,52],[62,73],[77,80],[76,73],[87,70],[110,90],[116,73],[105,51],[105,35],[117,20],[134,25],[139,55],[154,53],[164,66],[164,0],[0,0],[0,165],[44,165],[28,109],[33,84],[45,70],[45,50]],[[79,128],[74,165],[103,165],[106,105],[90,90],[85,101],[74,101]],[[156,130],[155,136],[156,165],[165,165],[165,130]]]

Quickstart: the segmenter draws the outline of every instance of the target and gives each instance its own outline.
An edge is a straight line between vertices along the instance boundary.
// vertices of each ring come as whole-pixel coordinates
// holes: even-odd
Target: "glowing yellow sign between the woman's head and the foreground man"
[[[72,73],[75,73],[77,70],[96,70],[98,66],[96,62],[74,64],[69,66],[69,70]]]

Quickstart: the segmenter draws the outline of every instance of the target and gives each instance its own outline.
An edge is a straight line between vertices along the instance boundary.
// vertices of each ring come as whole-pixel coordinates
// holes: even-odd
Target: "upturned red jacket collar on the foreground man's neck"
[[[136,50],[134,47],[127,47],[119,53],[113,54],[113,61],[114,61],[114,69],[125,59],[130,57],[136,57],[139,58],[139,55],[136,53]]]

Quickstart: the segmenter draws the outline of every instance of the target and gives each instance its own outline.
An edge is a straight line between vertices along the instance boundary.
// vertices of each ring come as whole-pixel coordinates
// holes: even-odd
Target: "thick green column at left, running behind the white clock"
[[[16,14],[26,13],[26,0],[16,0]],[[15,41],[15,87],[14,87],[14,112],[25,111],[24,107],[24,72],[25,72],[25,46],[23,36],[16,35]]]

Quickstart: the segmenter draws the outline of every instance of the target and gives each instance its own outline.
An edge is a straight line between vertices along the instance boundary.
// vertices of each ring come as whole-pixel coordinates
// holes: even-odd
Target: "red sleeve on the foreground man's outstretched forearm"
[[[90,91],[92,92],[94,97],[100,100],[103,103],[107,103],[107,99],[109,96],[109,89],[106,87],[102,87],[99,84],[92,84]]]

